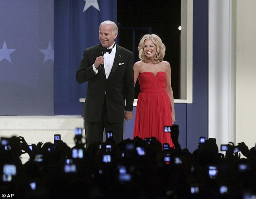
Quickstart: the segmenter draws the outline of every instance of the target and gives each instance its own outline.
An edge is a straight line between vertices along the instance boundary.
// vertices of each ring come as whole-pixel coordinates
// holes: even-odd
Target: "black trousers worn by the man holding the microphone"
[[[103,105],[103,111],[99,122],[84,121],[86,146],[88,147],[92,142],[102,142],[103,132],[105,128],[106,140],[107,131],[113,131],[113,141],[118,144],[123,140],[124,122],[122,123],[109,123],[107,119],[106,99]]]

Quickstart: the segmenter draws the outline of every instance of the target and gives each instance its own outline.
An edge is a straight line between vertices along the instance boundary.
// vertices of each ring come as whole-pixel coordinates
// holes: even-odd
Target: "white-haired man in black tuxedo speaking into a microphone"
[[[88,81],[84,108],[87,147],[102,142],[103,131],[113,131],[113,140],[123,140],[124,119],[133,117],[134,72],[132,52],[117,45],[118,27],[104,21],[99,27],[100,44],[84,50],[76,72],[78,83]],[[103,56],[102,56],[103,55]]]

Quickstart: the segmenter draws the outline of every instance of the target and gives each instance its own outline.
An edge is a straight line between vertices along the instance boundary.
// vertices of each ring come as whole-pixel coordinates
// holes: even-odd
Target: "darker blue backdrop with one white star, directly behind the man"
[[[117,21],[116,0],[55,0],[55,115],[81,115],[87,83],[76,82],[84,49],[99,43],[102,21]]]

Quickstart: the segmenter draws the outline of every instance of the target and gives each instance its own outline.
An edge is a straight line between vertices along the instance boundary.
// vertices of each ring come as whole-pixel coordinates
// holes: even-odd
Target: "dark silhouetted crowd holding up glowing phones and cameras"
[[[191,153],[180,148],[178,134],[173,125],[174,148],[154,137],[117,144],[111,135],[86,148],[79,129],[73,148],[60,135],[54,143],[31,146],[23,137],[1,137],[0,194],[22,199],[256,198],[255,146],[249,150],[243,142],[230,142],[221,146],[224,155],[209,138]],[[22,164],[24,153],[29,160]]]

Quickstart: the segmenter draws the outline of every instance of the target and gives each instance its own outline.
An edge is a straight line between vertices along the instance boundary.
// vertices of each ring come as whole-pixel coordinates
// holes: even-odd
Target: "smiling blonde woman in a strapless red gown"
[[[138,45],[140,61],[134,64],[134,85],[138,95],[133,137],[156,137],[173,147],[170,133],[164,126],[175,122],[174,99],[171,86],[171,67],[163,60],[166,47],[155,34],[144,35]]]

